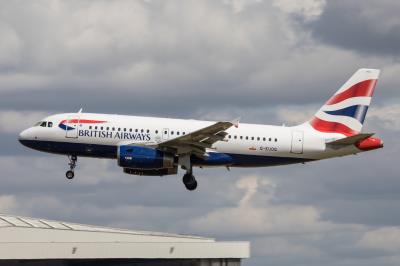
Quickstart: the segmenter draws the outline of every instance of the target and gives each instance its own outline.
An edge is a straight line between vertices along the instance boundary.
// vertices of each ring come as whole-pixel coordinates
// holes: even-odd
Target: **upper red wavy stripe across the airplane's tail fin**
[[[352,97],[372,97],[377,79],[368,79],[354,84],[349,89],[332,96],[326,105],[339,103]]]

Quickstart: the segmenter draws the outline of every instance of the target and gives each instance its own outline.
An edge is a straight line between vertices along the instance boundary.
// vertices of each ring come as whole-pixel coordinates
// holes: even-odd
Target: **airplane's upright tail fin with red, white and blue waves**
[[[317,131],[346,136],[361,132],[379,69],[359,69],[308,121]]]

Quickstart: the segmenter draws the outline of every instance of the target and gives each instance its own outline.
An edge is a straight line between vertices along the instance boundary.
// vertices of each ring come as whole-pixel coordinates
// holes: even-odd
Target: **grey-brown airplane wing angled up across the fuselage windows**
[[[228,134],[225,130],[232,126],[238,126],[238,123],[239,119],[231,122],[217,122],[189,134],[158,143],[157,148],[173,151],[176,154],[191,153],[203,157],[207,148],[211,148],[215,142],[225,138]]]

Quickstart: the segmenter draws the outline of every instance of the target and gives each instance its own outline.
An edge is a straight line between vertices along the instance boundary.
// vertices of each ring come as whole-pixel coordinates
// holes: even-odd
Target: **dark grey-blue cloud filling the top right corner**
[[[399,1],[327,1],[313,36],[327,44],[367,55],[399,59]]]

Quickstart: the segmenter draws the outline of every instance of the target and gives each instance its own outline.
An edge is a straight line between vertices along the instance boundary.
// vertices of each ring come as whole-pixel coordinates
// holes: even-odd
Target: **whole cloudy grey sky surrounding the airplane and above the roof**
[[[400,264],[399,1],[0,1],[0,212],[251,242],[244,265]],[[22,147],[55,113],[296,125],[358,68],[382,70],[384,149],[273,168],[122,173]]]

